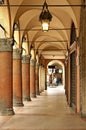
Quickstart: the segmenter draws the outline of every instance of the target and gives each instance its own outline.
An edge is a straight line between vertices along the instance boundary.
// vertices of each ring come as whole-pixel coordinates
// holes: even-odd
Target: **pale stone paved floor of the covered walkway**
[[[68,107],[63,86],[14,108],[14,116],[0,116],[0,130],[86,130],[86,121]]]

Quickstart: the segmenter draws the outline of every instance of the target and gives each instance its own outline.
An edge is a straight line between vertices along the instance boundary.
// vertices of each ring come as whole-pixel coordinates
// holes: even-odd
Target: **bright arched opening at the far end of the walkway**
[[[52,60],[47,64],[47,86],[65,86],[65,69],[60,60]]]

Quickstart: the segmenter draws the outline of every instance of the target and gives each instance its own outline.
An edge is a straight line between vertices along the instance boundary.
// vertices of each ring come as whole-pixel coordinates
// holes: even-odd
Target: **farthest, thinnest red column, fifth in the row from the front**
[[[40,92],[39,92],[39,63],[36,63],[36,94],[37,95],[40,95]]]

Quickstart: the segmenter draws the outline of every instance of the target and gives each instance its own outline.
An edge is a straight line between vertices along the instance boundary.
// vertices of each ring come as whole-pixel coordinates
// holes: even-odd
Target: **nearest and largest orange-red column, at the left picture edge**
[[[0,115],[13,115],[12,39],[0,39]]]

